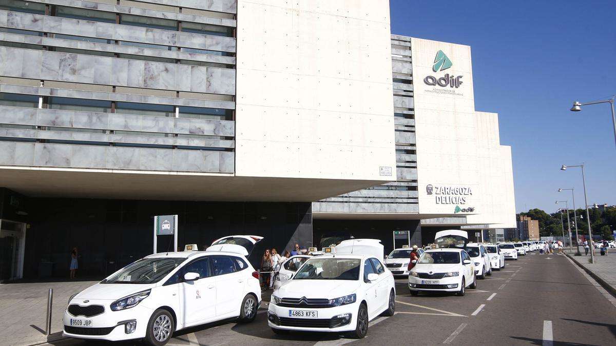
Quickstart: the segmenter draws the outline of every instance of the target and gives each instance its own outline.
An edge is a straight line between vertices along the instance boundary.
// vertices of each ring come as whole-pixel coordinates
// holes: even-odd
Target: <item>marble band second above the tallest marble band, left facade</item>
[[[150,43],[163,46],[235,52],[235,38],[144,28],[142,26],[91,22],[72,18],[50,17],[22,12],[0,12],[6,13],[6,26],[9,28],[92,38],[115,39],[118,41]]]

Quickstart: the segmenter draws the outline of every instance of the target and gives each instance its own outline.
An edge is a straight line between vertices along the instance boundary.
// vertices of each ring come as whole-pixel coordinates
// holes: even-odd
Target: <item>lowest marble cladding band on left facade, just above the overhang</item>
[[[221,164],[220,154],[203,150],[0,142],[0,164],[7,166],[229,172],[229,165]],[[225,158],[232,160],[233,153],[227,154],[230,156]]]

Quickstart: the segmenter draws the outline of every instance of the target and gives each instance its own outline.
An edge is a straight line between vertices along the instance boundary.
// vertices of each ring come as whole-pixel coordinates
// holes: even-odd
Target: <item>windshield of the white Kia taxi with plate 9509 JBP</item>
[[[171,273],[182,262],[184,257],[158,257],[154,259],[142,259],[127,265],[120,272],[111,276],[104,284],[151,284],[160,281],[164,276]]]

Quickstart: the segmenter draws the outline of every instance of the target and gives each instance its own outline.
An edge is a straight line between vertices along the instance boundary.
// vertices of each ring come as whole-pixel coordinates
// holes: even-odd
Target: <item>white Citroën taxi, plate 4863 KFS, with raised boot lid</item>
[[[360,339],[370,320],[394,315],[394,276],[381,262],[379,242],[349,239],[335,253],[307,260],[272,294],[267,312],[272,330],[349,332]]]

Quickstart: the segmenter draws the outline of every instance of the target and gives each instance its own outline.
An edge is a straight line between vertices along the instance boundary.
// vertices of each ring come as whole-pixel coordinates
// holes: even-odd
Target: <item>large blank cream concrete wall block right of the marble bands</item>
[[[395,180],[389,2],[240,0],[238,18],[236,174]]]

